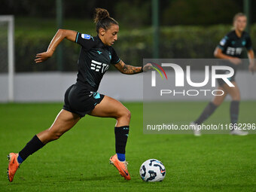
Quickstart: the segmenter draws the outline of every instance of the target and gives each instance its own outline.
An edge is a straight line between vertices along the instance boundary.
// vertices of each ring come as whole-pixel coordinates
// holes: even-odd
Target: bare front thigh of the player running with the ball
[[[130,111],[123,106],[123,104],[116,99],[109,96],[104,96],[102,102],[100,102],[90,115],[95,117],[122,117],[123,115],[130,116]]]

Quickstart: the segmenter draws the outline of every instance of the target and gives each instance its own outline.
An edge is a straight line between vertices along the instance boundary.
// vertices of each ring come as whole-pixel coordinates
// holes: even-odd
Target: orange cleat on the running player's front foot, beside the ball
[[[130,180],[130,174],[127,169],[128,163],[126,161],[120,161],[117,159],[117,154],[113,155],[109,159],[109,163],[111,163],[113,166],[117,168],[120,175],[123,176],[126,180]]]

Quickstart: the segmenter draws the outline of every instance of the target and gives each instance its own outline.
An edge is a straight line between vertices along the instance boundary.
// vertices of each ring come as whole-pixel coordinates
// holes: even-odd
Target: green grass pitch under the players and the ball
[[[256,191],[256,135],[145,135],[142,103],[124,103],[132,112],[126,146],[131,180],[108,164],[114,154],[111,118],[86,116],[68,133],[30,156],[14,181],[6,176],[7,154],[18,152],[35,133],[47,129],[61,103],[0,104],[0,191]],[[194,120],[206,102],[174,102],[178,118]],[[241,102],[239,120],[255,123],[256,102]],[[229,103],[207,121],[228,122]],[[150,158],[166,166],[166,178],[146,183],[139,167]]]

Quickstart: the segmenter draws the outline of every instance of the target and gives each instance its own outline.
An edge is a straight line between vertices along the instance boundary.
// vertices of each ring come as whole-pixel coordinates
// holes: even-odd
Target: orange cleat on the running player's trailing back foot
[[[18,156],[19,154],[14,154],[14,153],[8,154],[9,165],[7,169],[7,175],[10,182],[14,180],[15,172],[20,166],[17,160]]]

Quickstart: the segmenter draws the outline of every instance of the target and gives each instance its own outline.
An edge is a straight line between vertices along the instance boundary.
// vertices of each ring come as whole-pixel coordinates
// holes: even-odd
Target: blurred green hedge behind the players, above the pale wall
[[[172,26],[160,28],[160,58],[213,58],[213,51],[230,26]],[[16,72],[56,71],[56,54],[42,64],[35,64],[35,54],[47,50],[54,33],[17,32],[15,35]],[[256,48],[256,24],[251,26],[251,40]],[[120,30],[114,44],[124,62],[141,66],[143,58],[151,58],[152,29]],[[80,46],[63,41],[63,71],[76,71]],[[246,57],[246,54],[244,54]]]

